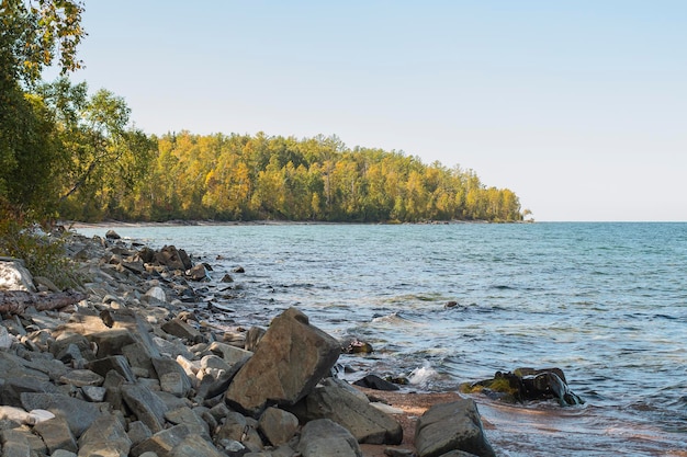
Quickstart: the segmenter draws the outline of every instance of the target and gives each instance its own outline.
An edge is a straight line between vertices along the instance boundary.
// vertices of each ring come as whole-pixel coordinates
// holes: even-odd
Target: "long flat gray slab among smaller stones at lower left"
[[[81,436],[93,421],[101,414],[95,403],[71,398],[64,393],[32,393],[21,395],[22,405],[26,411],[48,410],[69,424],[69,430],[76,437]]]

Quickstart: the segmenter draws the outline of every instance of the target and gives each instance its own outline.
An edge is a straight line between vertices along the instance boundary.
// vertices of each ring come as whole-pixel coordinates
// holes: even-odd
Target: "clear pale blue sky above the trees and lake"
[[[86,0],[74,76],[149,134],[473,169],[537,220],[687,220],[687,1]]]

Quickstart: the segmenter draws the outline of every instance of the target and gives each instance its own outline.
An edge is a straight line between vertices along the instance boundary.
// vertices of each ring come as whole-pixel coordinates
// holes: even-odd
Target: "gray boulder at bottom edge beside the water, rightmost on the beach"
[[[481,457],[496,454],[486,439],[477,405],[472,399],[435,404],[420,416],[415,430],[419,457],[439,457],[464,450]]]

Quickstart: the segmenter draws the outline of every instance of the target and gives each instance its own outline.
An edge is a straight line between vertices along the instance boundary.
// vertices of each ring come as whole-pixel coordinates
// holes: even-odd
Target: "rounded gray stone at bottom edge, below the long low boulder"
[[[303,457],[362,457],[353,435],[329,419],[305,424],[297,450]]]

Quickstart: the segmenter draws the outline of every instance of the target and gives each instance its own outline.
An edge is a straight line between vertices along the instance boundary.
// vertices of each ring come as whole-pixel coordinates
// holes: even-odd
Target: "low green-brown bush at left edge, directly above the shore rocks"
[[[46,235],[30,220],[0,206],[0,255],[22,259],[32,275],[45,276],[59,288],[80,284],[80,275],[65,255],[65,239]]]

